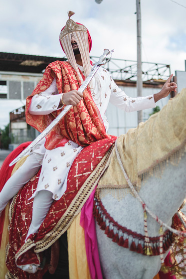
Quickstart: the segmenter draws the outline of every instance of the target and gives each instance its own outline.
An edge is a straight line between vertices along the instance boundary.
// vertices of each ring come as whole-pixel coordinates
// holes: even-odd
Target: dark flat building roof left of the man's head
[[[42,73],[48,64],[56,60],[66,61],[67,59],[64,57],[0,52],[0,71]]]

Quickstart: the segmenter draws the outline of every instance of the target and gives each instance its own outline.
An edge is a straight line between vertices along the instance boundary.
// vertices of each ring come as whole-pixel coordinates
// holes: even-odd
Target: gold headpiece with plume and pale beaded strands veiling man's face
[[[79,75],[81,82],[83,83],[83,79],[81,77],[81,74],[79,72],[74,52],[71,45],[71,37],[73,36],[76,40],[77,46],[79,48],[81,59],[83,63],[83,68],[85,71],[85,77],[88,76],[88,74],[91,71],[91,64],[90,64],[90,58],[89,58],[89,41],[88,41],[88,33],[87,28],[79,23],[74,22],[70,17],[74,14],[73,11],[68,12],[69,19],[66,22],[66,25],[60,32],[60,43],[61,46],[68,58],[68,61],[74,68],[74,70]]]

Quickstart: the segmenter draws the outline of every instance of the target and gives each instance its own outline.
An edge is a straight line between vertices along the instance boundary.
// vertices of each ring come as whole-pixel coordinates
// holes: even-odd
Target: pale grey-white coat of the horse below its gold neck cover
[[[186,105],[186,92],[180,102],[184,102]],[[177,109],[179,109],[179,105]],[[185,131],[186,138],[185,111],[184,106],[182,106],[179,112],[182,120],[185,118],[185,125],[183,126],[183,121],[178,121],[176,129],[179,133]],[[173,114],[174,111],[172,112]],[[164,124],[166,125],[166,123]],[[168,140],[166,135],[163,140]],[[106,190],[101,189],[102,194],[103,191]],[[183,152],[178,165],[175,166],[167,162],[160,178],[151,176],[147,181],[142,180],[139,195],[153,213],[164,223],[171,226],[173,216],[186,197],[186,152]],[[105,192],[101,201],[107,212],[118,224],[144,235],[143,208],[133,195],[127,194],[124,198],[117,200],[113,195]],[[149,214],[147,224],[149,236],[159,236],[160,225]],[[144,256],[120,247],[112,239],[108,238],[103,230],[100,230],[100,226],[97,223],[96,233],[101,268],[105,279],[153,279],[160,271],[160,256]],[[129,243],[131,242],[132,239],[129,237]],[[164,257],[167,254],[168,251],[164,254]]]

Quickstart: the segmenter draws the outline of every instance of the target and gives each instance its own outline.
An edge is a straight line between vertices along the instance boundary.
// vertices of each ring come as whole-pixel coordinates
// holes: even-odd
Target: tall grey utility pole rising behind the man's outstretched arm
[[[142,35],[140,0],[136,0],[137,8],[137,96],[142,97]],[[143,121],[143,112],[138,111],[138,124]]]

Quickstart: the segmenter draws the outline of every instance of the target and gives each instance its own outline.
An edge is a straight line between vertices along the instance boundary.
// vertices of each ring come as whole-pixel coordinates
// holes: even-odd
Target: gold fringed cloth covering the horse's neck
[[[177,165],[186,152],[185,106],[186,89],[183,89],[160,112],[118,138],[124,168],[138,191],[142,179],[160,177],[167,163]],[[98,188],[128,188],[115,149]]]

